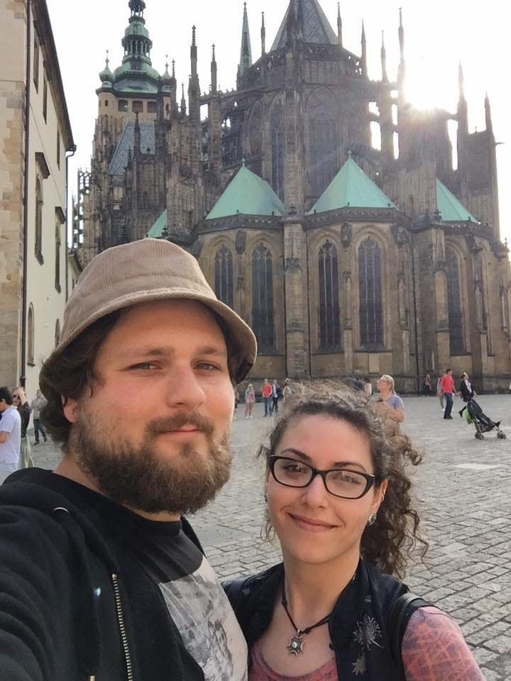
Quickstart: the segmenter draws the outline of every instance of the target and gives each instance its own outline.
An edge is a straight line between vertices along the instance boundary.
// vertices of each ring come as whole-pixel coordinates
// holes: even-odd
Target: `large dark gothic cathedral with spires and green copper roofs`
[[[84,265],[112,245],[172,240],[252,326],[252,380],[375,378],[401,392],[446,367],[480,389],[511,374],[511,267],[501,243],[490,104],[468,132],[456,114],[368,78],[318,0],[291,0],[252,59],[245,6],[236,89],[201,94],[196,30],[187,96],[150,60],[145,2],[130,0],[122,64],[97,90],[92,168],[79,172],[75,239]],[[180,96],[180,99],[178,99]],[[207,107],[207,118],[201,111]],[[456,121],[453,168],[449,121]],[[380,148],[373,145],[378,129]]]

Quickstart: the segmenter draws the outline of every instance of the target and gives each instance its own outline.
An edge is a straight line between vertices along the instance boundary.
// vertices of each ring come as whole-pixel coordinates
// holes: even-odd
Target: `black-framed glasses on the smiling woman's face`
[[[319,470],[287,456],[270,456],[270,472],[275,482],[285,487],[309,487],[321,475],[326,492],[341,499],[361,499],[375,483],[375,476],[346,468]]]

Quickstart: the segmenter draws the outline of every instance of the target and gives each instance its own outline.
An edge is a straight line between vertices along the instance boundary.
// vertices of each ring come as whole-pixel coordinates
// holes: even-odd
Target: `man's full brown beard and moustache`
[[[199,453],[189,443],[178,445],[180,450],[168,455],[154,450],[155,436],[185,425],[204,433],[207,453]],[[128,438],[116,438],[111,431],[100,433],[93,414],[82,409],[79,421],[72,426],[68,451],[102,494],[129,509],[192,514],[214,499],[229,480],[229,433],[215,441],[212,421],[199,414],[151,421],[138,446]]]

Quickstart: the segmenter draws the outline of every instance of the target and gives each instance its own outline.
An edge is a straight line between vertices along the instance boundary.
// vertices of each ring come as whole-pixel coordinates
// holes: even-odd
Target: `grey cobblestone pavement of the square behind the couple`
[[[424,453],[414,471],[422,532],[430,543],[426,565],[412,565],[410,588],[449,611],[461,625],[487,681],[511,680],[511,395],[478,400],[507,440],[474,438],[459,419],[444,421],[436,397],[405,399],[405,429]],[[270,419],[262,405],[251,421],[238,408],[233,429],[231,482],[193,519],[209,560],[221,577],[250,574],[279,560],[260,539],[263,463],[255,458]],[[36,465],[53,467],[50,444],[35,448]]]

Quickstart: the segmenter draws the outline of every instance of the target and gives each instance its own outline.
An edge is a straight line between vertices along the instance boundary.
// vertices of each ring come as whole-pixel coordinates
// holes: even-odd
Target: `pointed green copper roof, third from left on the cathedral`
[[[326,213],[339,208],[396,208],[351,157],[312,206],[311,213]]]

